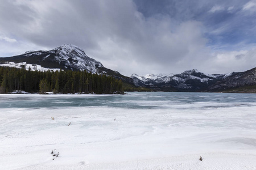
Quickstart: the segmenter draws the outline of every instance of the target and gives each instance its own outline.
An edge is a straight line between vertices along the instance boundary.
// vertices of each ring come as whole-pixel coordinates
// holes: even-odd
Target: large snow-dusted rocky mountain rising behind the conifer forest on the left
[[[0,57],[0,66],[30,67],[32,70],[86,70],[94,74],[112,75],[124,82],[132,83],[133,79],[121,75],[118,71],[107,69],[101,62],[88,57],[84,50],[75,45],[63,44],[48,51],[28,51],[13,57]]]

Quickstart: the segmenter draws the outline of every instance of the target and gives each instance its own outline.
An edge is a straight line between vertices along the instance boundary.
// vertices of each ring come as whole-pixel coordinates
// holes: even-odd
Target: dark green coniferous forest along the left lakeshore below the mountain
[[[32,71],[14,67],[0,67],[0,93],[14,90],[30,93],[95,93],[123,94],[122,80],[112,76],[98,75],[86,71]]]

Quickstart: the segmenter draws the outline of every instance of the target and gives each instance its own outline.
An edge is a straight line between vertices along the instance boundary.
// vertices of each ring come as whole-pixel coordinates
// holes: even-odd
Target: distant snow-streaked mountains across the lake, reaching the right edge
[[[256,84],[256,69],[241,73],[206,74],[200,71],[186,70],[180,74],[132,74],[137,87],[147,87],[159,91],[184,92],[221,92]]]

